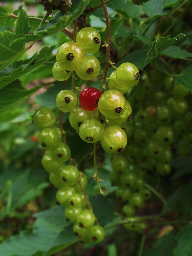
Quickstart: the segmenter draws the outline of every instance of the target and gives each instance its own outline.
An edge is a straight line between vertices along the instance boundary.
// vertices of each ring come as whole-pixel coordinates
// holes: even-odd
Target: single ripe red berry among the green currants
[[[101,96],[101,91],[94,87],[85,88],[79,95],[79,102],[81,107],[94,111],[98,107],[99,98]]]

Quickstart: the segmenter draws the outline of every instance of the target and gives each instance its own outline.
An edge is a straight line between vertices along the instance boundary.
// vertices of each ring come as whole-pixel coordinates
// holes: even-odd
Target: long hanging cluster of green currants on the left
[[[68,164],[71,152],[62,142],[62,134],[56,122],[55,113],[48,108],[38,109],[33,115],[33,123],[41,130],[39,142],[48,150],[42,160],[42,167],[49,173],[51,185],[58,188],[56,200],[65,208],[65,217],[74,222],[74,235],[84,243],[100,243],[105,237],[104,229],[95,225],[95,215],[87,209],[88,196],[85,191],[86,175],[76,166]]]

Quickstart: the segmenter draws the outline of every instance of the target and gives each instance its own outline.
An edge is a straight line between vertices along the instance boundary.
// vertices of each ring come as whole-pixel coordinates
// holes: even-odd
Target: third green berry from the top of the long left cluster
[[[51,153],[57,157],[58,162],[64,163],[71,157],[71,151],[66,143],[59,142],[55,148],[51,150]]]

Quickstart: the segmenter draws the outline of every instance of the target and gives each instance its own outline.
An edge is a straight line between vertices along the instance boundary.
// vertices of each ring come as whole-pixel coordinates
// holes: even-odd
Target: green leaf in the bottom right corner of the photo
[[[188,224],[176,237],[174,256],[192,256],[192,224]]]

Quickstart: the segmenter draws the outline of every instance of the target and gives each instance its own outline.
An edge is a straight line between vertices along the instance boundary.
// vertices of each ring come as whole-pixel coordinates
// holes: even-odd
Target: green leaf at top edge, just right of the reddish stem
[[[141,5],[133,4],[128,0],[112,1],[107,4],[113,10],[121,13],[127,19],[133,19],[143,13]]]

